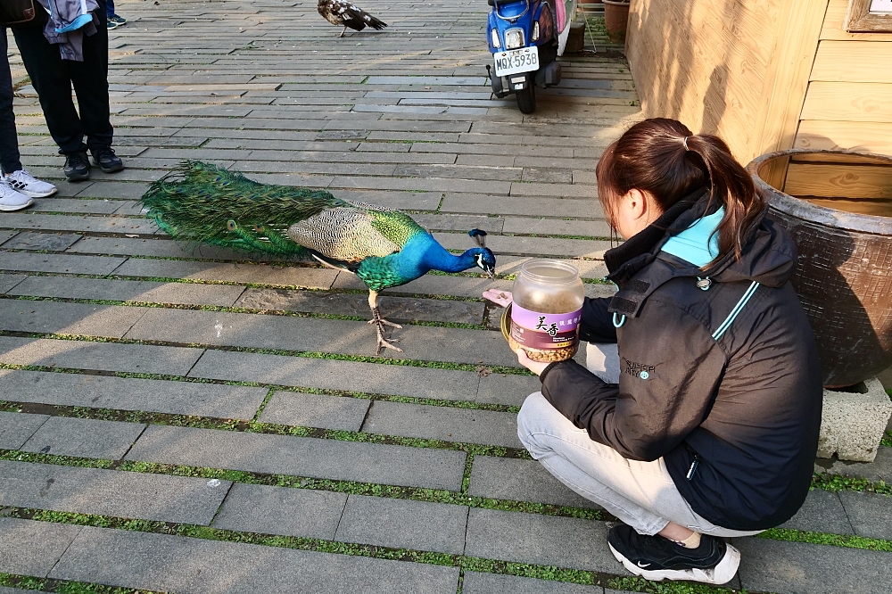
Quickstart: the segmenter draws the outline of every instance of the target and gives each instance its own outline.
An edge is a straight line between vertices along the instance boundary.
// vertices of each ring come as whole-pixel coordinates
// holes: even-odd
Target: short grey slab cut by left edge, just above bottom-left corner
[[[81,529],[0,517],[0,572],[45,577]]]

